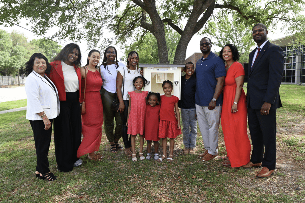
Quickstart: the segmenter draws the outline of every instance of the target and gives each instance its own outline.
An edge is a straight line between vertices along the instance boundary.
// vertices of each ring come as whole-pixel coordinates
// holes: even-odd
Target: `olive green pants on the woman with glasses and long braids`
[[[122,137],[122,120],[120,116],[120,112],[114,112],[110,109],[111,103],[113,101],[115,93],[108,92],[104,88],[102,88],[101,96],[103,103],[103,111],[104,111],[104,130],[106,133],[106,137],[109,142],[114,142],[114,139],[120,139]],[[115,118],[115,130],[113,119]]]

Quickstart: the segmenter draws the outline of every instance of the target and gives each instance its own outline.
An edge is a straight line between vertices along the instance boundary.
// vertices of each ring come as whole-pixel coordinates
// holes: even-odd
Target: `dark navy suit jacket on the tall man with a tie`
[[[247,84],[247,107],[259,110],[264,102],[271,103],[271,109],[282,107],[278,89],[284,70],[284,52],[278,45],[267,41],[257,59],[251,64],[254,49],[249,55],[249,80]]]

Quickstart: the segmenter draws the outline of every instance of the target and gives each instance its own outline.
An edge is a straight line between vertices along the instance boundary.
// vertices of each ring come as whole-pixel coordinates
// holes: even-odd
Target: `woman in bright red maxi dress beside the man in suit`
[[[222,165],[240,167],[250,161],[251,145],[247,134],[246,95],[242,89],[245,71],[235,45],[227,44],[219,55],[227,63],[223,89],[221,127],[227,158]]]

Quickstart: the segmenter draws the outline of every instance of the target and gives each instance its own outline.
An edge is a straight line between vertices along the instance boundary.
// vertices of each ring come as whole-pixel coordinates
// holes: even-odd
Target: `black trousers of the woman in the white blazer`
[[[51,143],[53,119],[49,120],[51,122],[51,127],[48,130],[45,130],[45,124],[43,120],[30,120],[31,127],[33,129],[36,148],[36,171],[39,171],[42,174],[50,172],[48,153]]]

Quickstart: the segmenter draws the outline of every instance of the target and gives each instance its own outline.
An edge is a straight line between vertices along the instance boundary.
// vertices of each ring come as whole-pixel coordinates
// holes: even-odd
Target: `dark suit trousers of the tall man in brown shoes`
[[[248,108],[248,124],[253,145],[250,161],[262,162],[269,170],[275,169],[276,162],[276,109],[261,115],[260,110]],[[265,153],[264,153],[265,148]]]

